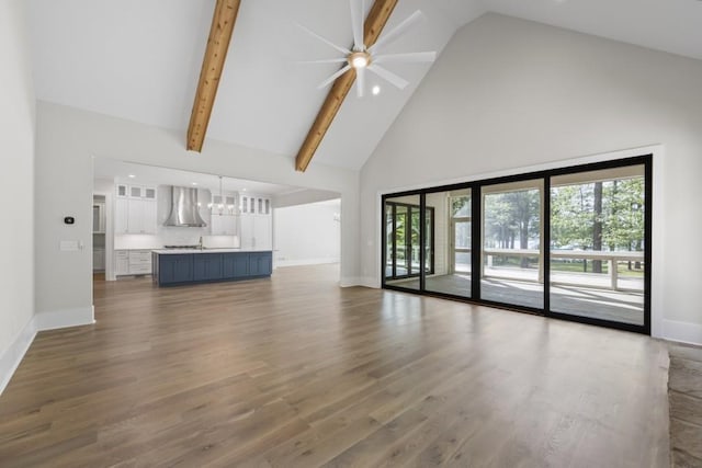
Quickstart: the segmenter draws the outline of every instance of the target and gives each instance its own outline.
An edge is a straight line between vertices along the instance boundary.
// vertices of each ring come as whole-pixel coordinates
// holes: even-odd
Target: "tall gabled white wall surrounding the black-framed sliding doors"
[[[362,275],[380,284],[380,193],[660,144],[654,312],[661,334],[702,343],[701,129],[702,61],[485,15],[456,33],[362,169]]]

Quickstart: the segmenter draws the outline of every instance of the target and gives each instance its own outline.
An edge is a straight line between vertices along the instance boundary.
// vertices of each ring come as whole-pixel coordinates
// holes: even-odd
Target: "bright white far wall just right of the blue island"
[[[336,263],[341,253],[341,202],[320,202],[273,210],[276,266]]]

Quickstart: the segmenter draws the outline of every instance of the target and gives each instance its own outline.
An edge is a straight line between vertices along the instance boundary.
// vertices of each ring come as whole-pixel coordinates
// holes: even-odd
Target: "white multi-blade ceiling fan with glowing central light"
[[[420,10],[415,11],[411,15],[409,15],[405,21],[399,23],[393,30],[388,31],[386,34],[382,34],[378,39],[370,47],[363,43],[364,37],[364,25],[363,25],[363,13],[365,12],[364,0],[349,0],[351,5],[351,30],[353,32],[353,47],[348,49],[346,47],[341,47],[337,44],[333,44],[331,41],[326,37],[320,36],[308,27],[298,24],[298,26],[310,34],[312,36],[318,38],[330,47],[343,54],[343,57],[338,58],[329,58],[321,60],[309,60],[306,64],[343,64],[346,65],[341,67],[337,72],[331,75],[329,78],[324,80],[318,89],[326,88],[330,83],[332,83],[337,78],[346,73],[347,71],[353,69],[355,71],[355,90],[356,95],[359,98],[363,98],[364,93],[364,84],[365,84],[365,70],[369,70],[384,80],[388,81],[393,85],[401,89],[405,89],[409,82],[404,78],[397,76],[396,73],[389,71],[384,68],[380,64],[384,62],[393,62],[393,61],[404,61],[404,62],[431,62],[437,58],[435,52],[416,52],[416,53],[405,53],[405,54],[378,54],[378,49],[382,49],[384,46],[389,45],[399,38],[403,34],[405,34],[412,25],[415,25],[418,21],[424,18],[423,13]]]

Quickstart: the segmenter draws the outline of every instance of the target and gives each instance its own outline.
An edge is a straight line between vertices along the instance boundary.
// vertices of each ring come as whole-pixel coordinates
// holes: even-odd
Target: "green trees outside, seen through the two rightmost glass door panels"
[[[485,248],[539,249],[539,190],[485,196]],[[574,184],[551,190],[552,249],[642,251],[644,248],[643,178]],[[495,265],[537,267],[536,259],[495,256]],[[608,262],[554,261],[556,271],[607,273]],[[620,263],[625,275],[643,275],[639,262]]]

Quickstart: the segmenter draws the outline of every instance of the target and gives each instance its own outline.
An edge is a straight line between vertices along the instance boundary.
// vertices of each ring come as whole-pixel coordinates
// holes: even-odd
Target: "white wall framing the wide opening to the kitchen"
[[[166,130],[42,101],[37,103],[36,146],[37,311],[90,319],[91,156],[339,192],[348,221],[341,239],[341,282],[358,281],[356,171],[313,163],[299,173],[292,157],[215,140],[206,140],[202,153],[189,152],[184,130]],[[61,224],[66,215],[76,216],[73,227]],[[88,248],[59,252],[60,240],[78,240]]]

